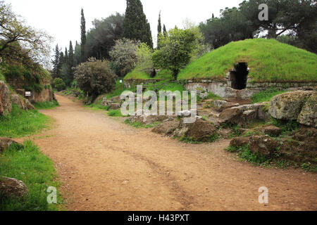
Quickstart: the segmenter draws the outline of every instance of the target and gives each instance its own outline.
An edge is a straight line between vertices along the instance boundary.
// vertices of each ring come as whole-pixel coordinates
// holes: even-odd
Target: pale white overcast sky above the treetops
[[[45,30],[54,37],[63,49],[69,41],[80,43],[80,9],[84,8],[87,30],[92,28],[92,20],[106,18],[113,13],[125,13],[125,0],[5,0],[11,3],[13,11],[22,15],[28,25]],[[182,27],[188,18],[200,23],[219,15],[220,9],[239,6],[242,0],[141,0],[144,13],[151,24],[151,32],[156,41],[157,20],[161,11],[162,26]],[[154,42],[155,42],[154,41]],[[54,47],[52,45],[52,48]]]

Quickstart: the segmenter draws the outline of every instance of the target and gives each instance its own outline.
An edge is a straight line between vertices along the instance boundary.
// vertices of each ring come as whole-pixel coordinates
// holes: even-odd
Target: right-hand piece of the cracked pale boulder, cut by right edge
[[[304,103],[297,122],[317,128],[317,94],[312,94]]]

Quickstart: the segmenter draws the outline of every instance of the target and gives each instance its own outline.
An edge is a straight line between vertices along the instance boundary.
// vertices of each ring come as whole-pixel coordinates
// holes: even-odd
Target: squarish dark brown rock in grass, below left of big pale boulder
[[[269,136],[251,136],[249,139],[251,153],[272,157],[278,150],[279,143]]]

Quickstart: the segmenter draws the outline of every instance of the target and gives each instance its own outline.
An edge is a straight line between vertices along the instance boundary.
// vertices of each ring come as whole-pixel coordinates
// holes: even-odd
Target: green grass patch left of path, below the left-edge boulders
[[[49,127],[50,119],[37,110],[21,110],[17,105],[12,105],[12,112],[0,116],[0,136],[18,138],[37,134],[42,129]]]

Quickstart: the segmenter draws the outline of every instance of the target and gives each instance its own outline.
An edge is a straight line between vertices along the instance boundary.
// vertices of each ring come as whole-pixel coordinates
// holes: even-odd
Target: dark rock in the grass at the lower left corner
[[[28,193],[29,190],[23,181],[6,176],[0,177],[0,195],[2,198],[24,198]]]

